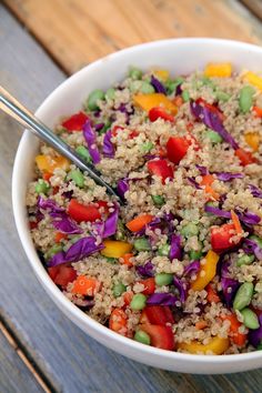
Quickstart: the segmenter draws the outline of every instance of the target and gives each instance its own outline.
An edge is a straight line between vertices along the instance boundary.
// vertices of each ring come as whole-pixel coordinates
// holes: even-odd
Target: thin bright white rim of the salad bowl
[[[46,104],[49,103],[50,101],[56,101],[57,95],[61,94],[64,90],[70,87],[73,80],[79,78],[80,75],[84,74],[87,70],[91,70],[93,68],[97,68],[99,64],[107,62],[111,59],[115,59],[118,57],[122,57],[125,53],[132,52],[133,50],[139,50],[143,48],[153,48],[157,46],[165,46],[170,44],[171,42],[178,43],[178,44],[189,44],[189,43],[212,43],[212,44],[220,44],[220,46],[228,46],[228,47],[239,47],[240,49],[244,50],[251,50],[252,52],[262,52],[262,48],[252,44],[252,43],[246,43],[242,41],[235,41],[235,40],[226,40],[226,39],[216,39],[216,38],[201,38],[201,37],[195,37],[195,38],[178,38],[178,39],[164,39],[164,40],[155,40],[155,41],[150,41],[145,43],[140,43],[135,44],[129,48],[124,48],[122,50],[119,50],[117,52],[110,53],[101,59],[95,60],[94,62],[83,67],[81,70],[77,71],[69,78],[67,78],[62,83],[60,83],[40,104],[38,110],[36,111],[36,115],[38,117],[39,113],[44,109]],[[41,115],[39,115],[41,118]],[[228,354],[228,355],[201,355],[201,354],[190,354],[190,353],[180,353],[175,351],[165,351],[161,349],[157,349],[153,346],[148,346],[144,344],[141,344],[134,340],[128,339],[125,336],[122,336],[119,333],[115,333],[108,329],[107,326],[102,325],[101,323],[97,322],[93,320],[91,316],[87,315],[83,311],[81,311],[77,305],[74,305],[69,299],[66,298],[66,295],[58,289],[58,286],[52,282],[50,276],[48,275],[47,271],[44,270],[39,256],[37,255],[36,249],[31,243],[28,242],[27,234],[30,233],[29,228],[26,225],[23,212],[24,212],[24,206],[23,203],[21,204],[21,201],[19,200],[19,196],[17,194],[17,184],[19,181],[19,170],[20,170],[20,163],[22,162],[22,152],[28,144],[28,139],[31,138],[31,132],[26,130],[23,135],[21,137],[21,140],[19,142],[19,147],[17,150],[16,159],[14,159],[14,164],[13,164],[13,172],[12,172],[12,206],[13,206],[13,215],[14,215],[14,221],[16,221],[16,226],[18,230],[18,234],[21,241],[21,244],[23,246],[23,250],[27,254],[27,258],[29,259],[29,262],[32,266],[32,270],[34,271],[38,280],[43,284],[44,290],[48,292],[48,294],[52,298],[54,303],[60,308],[62,311],[67,311],[66,314],[68,318],[70,318],[73,322],[78,321],[79,324],[78,326],[90,326],[91,331],[88,333],[90,336],[92,336],[94,340],[98,340],[94,337],[94,334],[92,331],[98,331],[100,334],[103,336],[104,341],[107,340],[108,342],[112,341],[117,343],[120,346],[123,347],[129,347],[130,350],[138,351],[139,353],[142,353],[143,355],[153,355],[155,357],[164,357],[165,360],[169,360],[170,362],[173,361],[190,361],[191,363],[200,363],[202,365],[208,364],[208,363],[213,363],[213,364],[230,364],[232,361],[234,363],[242,363],[244,361],[251,361],[255,359],[261,359],[262,352],[261,351],[254,351],[250,353],[241,353],[241,354]],[[24,200],[23,200],[24,202]],[[87,332],[87,330],[85,330]],[[112,349],[112,346],[108,345],[109,347]]]

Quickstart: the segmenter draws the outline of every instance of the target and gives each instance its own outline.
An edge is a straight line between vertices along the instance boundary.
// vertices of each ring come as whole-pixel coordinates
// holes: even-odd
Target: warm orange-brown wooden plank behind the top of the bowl
[[[174,37],[262,42],[236,0],[4,0],[68,73],[118,49]]]

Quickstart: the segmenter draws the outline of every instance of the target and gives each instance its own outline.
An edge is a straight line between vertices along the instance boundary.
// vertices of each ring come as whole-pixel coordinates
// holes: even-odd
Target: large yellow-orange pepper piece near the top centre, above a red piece
[[[168,99],[167,95],[162,93],[152,93],[152,94],[137,94],[133,95],[134,103],[141,107],[144,111],[150,111],[150,109],[155,107],[162,107],[170,111],[172,114],[178,112],[177,107],[172,101]]]

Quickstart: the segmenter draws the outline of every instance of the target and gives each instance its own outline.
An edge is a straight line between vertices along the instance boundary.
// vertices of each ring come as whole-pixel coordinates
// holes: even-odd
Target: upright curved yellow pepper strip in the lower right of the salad
[[[202,291],[211,280],[215,276],[216,264],[219,262],[219,255],[210,250],[205,255],[205,264],[201,264],[196,280],[191,283],[191,288],[194,291]]]

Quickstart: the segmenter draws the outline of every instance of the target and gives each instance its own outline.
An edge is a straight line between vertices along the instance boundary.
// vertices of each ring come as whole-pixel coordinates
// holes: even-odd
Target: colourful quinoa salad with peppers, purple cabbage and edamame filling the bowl
[[[62,293],[145,345],[262,349],[262,74],[132,67],[54,129],[124,204],[47,144],[30,231]]]

